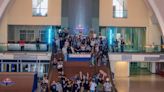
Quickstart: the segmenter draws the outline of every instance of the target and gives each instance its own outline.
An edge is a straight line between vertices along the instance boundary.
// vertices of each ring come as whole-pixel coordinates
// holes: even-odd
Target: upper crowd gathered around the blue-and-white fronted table
[[[90,53],[92,65],[105,64],[103,61],[106,60],[103,59],[106,59],[106,56],[103,54],[108,53],[106,38],[103,38],[101,35],[97,37],[91,35],[84,36],[82,33],[79,33],[79,35],[69,35],[68,31],[63,31],[58,34],[58,38],[53,40],[52,52],[56,53],[61,50],[64,54],[65,61],[67,61],[68,54]]]

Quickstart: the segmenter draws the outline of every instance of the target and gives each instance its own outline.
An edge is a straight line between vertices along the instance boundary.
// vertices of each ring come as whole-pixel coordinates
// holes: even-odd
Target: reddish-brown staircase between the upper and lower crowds
[[[63,57],[62,55],[58,55],[58,56]],[[52,57],[54,58],[57,56],[52,55]],[[107,76],[110,78],[110,81],[113,86],[113,92],[117,92],[112,76],[110,76],[112,72],[111,72],[109,59],[107,60],[107,62],[108,62],[107,66],[92,66],[92,67],[90,67],[89,62],[81,62],[81,61],[80,62],[78,61],[77,62],[64,62],[64,74],[66,75],[67,78],[71,78],[75,76],[76,74],[79,74],[79,72],[81,71],[85,75],[89,73],[89,76],[93,76],[94,74],[98,73],[99,70],[103,70],[105,73],[107,73]],[[58,74],[57,69],[55,69],[50,62],[50,68],[49,68],[49,73],[48,73],[49,88],[50,88],[50,83],[53,80],[55,81],[59,80],[58,76],[59,74]]]

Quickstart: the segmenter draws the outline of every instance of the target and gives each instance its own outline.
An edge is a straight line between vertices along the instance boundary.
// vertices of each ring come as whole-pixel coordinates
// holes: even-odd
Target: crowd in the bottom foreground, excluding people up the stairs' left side
[[[75,75],[71,79],[61,76],[59,81],[51,83],[50,89],[52,92],[111,92],[112,85],[109,78],[102,79],[98,73],[91,78],[89,74],[82,77]]]

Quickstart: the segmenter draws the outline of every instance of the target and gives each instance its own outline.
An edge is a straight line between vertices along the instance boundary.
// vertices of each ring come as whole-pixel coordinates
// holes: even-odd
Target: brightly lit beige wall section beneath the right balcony
[[[129,62],[115,62],[115,77],[129,77]]]

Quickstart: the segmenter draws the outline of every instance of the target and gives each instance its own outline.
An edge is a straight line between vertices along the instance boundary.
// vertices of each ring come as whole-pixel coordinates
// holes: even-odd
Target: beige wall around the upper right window
[[[100,0],[100,26],[139,26],[148,24],[148,12],[144,0],[127,0],[128,18],[113,18],[113,0]]]

